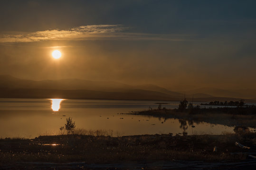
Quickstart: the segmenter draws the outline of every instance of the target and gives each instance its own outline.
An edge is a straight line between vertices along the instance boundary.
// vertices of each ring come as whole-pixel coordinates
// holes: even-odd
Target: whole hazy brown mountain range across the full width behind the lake
[[[255,99],[256,90],[223,90],[199,88],[173,92],[157,85],[126,85],[111,81],[81,79],[23,80],[0,75],[1,98],[69,98],[69,99],[116,99],[116,100],[170,100],[184,98],[194,101],[229,101]]]

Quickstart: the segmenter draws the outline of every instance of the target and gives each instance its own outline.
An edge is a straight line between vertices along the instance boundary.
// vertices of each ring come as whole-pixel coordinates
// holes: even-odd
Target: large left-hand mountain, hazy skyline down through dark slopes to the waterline
[[[144,87],[148,90],[138,89]],[[160,89],[168,93],[157,91]],[[0,76],[1,98],[180,100],[180,97],[171,94],[181,95],[154,85],[131,86],[111,81],[81,79],[33,81],[8,75]]]

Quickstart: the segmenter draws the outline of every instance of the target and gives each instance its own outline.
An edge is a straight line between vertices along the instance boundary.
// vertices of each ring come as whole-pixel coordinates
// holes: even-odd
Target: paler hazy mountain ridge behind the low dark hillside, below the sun
[[[23,80],[9,75],[0,75],[0,88],[35,88],[35,89],[58,89],[58,90],[94,90],[105,92],[123,92],[127,90],[148,90],[182,97],[182,93],[172,92],[157,85],[126,85],[113,81],[90,81],[81,79],[61,80]]]

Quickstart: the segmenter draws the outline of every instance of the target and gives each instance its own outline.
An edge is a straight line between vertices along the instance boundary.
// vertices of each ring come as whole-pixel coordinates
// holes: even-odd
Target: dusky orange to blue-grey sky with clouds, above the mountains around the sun
[[[255,89],[255,7],[255,0],[2,0],[0,74]]]

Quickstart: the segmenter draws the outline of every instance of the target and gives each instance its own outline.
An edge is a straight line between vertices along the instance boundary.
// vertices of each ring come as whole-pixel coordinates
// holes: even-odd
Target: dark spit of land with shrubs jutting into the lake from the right
[[[133,115],[146,115],[164,119],[184,119],[192,123],[207,122],[226,126],[256,127],[256,108],[210,108],[210,109],[154,109],[132,111]]]

